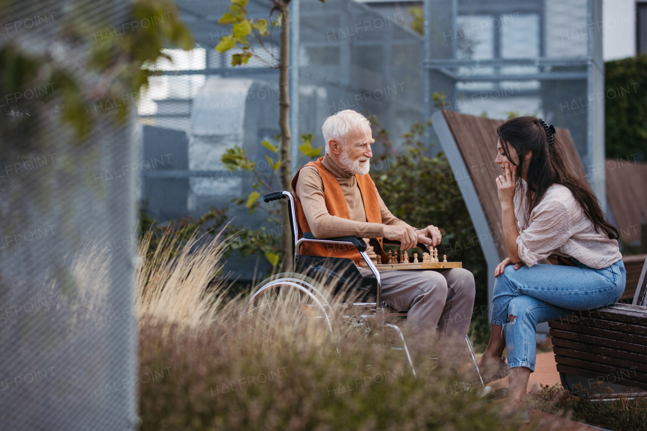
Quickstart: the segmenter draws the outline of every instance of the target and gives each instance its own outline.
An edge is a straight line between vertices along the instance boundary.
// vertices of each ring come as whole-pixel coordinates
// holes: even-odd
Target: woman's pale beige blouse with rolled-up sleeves
[[[542,201],[528,217],[523,183],[514,196],[517,219],[519,257],[529,267],[551,254],[572,256],[591,268],[602,269],[622,259],[616,239],[595,232],[593,222],[585,215],[573,193],[561,184],[546,190]]]

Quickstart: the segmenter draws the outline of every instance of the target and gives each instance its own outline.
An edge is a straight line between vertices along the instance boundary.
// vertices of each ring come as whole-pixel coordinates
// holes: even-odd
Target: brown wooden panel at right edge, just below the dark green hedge
[[[647,164],[606,160],[606,195],[625,243],[640,241],[641,212],[647,217]]]

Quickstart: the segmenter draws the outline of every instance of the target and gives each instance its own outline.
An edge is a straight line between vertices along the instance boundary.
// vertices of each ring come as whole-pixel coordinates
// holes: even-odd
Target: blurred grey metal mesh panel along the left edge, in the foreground
[[[10,1],[0,47],[51,55],[93,82],[83,72],[87,41],[128,13],[120,0]],[[50,84],[47,91],[61,82]],[[3,94],[3,121],[21,118],[30,97]],[[109,179],[136,162],[132,122],[100,113],[79,142],[61,126],[60,108],[52,101],[18,142],[0,137],[1,428],[133,429],[141,374],[132,308],[137,179]]]

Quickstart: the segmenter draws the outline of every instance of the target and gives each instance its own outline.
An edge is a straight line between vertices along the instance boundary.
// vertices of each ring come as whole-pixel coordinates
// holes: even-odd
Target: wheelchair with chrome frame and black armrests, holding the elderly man
[[[331,295],[329,291],[323,289],[322,283],[316,281],[325,279],[325,284],[334,284],[335,292],[350,288],[355,293],[350,303],[344,301],[336,304],[338,307],[342,307],[342,316],[345,322],[349,322],[355,327],[366,327],[367,333],[372,330],[369,328],[368,323],[371,321],[373,327],[378,330],[381,329],[386,332],[386,329],[388,329],[389,331],[394,331],[396,334],[394,340],[395,342],[399,341],[401,347],[393,345],[389,347],[402,351],[411,373],[414,377],[417,377],[402,331],[397,325],[386,322],[387,317],[406,317],[407,311],[392,310],[388,307],[386,301],[382,300],[380,272],[367,256],[367,246],[364,240],[354,236],[318,239],[314,238],[313,234],[309,232],[303,232],[303,238],[298,238],[299,229],[292,193],[285,191],[272,192],[263,196],[263,201],[266,203],[279,199],[288,200],[292,234],[292,268],[294,272],[276,274],[259,283],[256,289],[252,291],[250,299],[243,309],[243,315],[254,310],[265,313],[265,316],[261,316],[261,318],[270,322],[276,315],[276,310],[273,310],[272,306],[286,307],[286,302],[296,300],[299,305],[299,307],[296,307],[298,313],[303,313],[308,318],[318,320],[325,328],[325,333],[334,338],[333,323],[335,315],[332,312]],[[353,260],[350,259],[300,254],[300,245],[307,242],[355,247],[366,262],[367,269],[373,273],[373,277],[362,276]],[[399,241],[388,241],[386,238],[383,242],[386,245],[400,244]],[[429,252],[424,244],[418,244],[418,247],[423,252]],[[282,291],[281,296],[278,296],[278,291]],[[272,298],[274,298],[274,302],[272,302]],[[280,300],[276,300],[276,298],[280,298]],[[285,333],[285,331],[283,332]],[[468,357],[479,375],[481,392],[487,392],[478,368],[474,349],[468,337],[465,337],[465,342]],[[430,359],[437,360],[437,356],[432,356]]]

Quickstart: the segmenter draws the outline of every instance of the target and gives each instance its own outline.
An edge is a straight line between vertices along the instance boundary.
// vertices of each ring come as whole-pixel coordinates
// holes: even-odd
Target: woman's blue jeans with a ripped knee
[[[626,270],[619,260],[593,269],[572,259],[564,265],[508,265],[494,282],[492,324],[503,326],[508,368],[534,371],[536,325],[571,315],[574,310],[597,309],[617,302],[624,292]],[[510,315],[516,316],[512,322]]]

